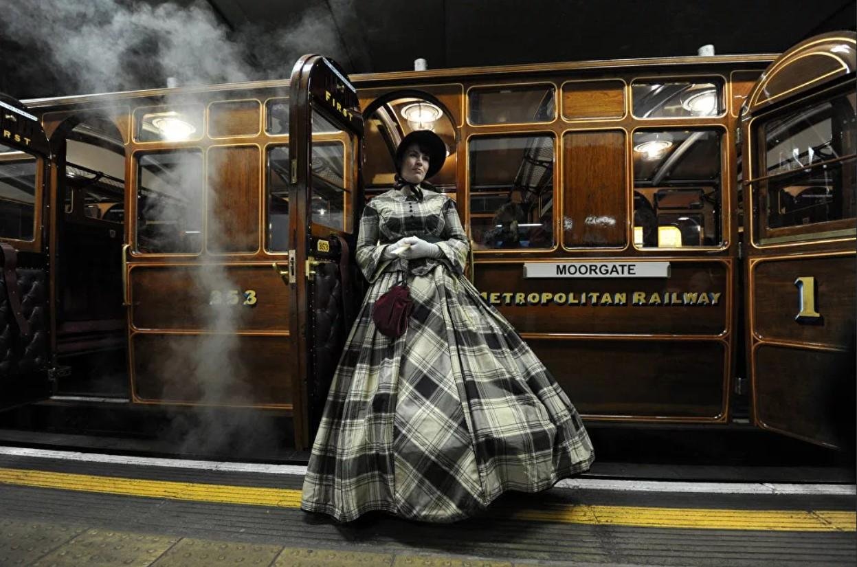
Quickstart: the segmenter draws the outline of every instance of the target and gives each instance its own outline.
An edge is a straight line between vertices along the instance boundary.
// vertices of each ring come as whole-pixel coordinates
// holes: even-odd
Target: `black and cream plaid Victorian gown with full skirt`
[[[435,242],[442,257],[384,260],[404,236]],[[357,263],[371,286],[333,377],[303,510],[452,522],[507,489],[541,491],[589,469],[592,445],[565,392],[464,278],[468,246],[444,194],[393,189],[366,206]],[[414,308],[391,339],[372,307],[405,274]]]

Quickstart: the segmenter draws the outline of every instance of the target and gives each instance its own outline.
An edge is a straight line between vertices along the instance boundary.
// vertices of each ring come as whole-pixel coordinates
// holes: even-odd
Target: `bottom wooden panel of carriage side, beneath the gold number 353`
[[[289,337],[136,334],[134,394],[202,405],[292,402]]]

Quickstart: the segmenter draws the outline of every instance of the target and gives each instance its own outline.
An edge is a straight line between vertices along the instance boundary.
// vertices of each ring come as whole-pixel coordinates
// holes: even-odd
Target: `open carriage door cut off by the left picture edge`
[[[0,94],[0,409],[50,395],[44,240],[50,154],[39,119]]]

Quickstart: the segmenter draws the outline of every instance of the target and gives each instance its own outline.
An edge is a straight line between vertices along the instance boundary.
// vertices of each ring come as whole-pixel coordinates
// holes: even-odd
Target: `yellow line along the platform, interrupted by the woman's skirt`
[[[229,486],[141,480],[92,474],[0,468],[0,484],[37,486],[218,504],[300,508],[301,491],[288,488]],[[536,522],[584,523],[644,528],[738,529],[794,532],[854,532],[857,512],[841,510],[723,510],[590,504],[548,504],[516,510],[512,517]]]

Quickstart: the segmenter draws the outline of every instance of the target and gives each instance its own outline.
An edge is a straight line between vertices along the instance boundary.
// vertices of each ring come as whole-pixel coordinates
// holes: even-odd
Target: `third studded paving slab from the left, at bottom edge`
[[[220,567],[261,565],[268,567],[281,546],[263,546],[235,541],[191,540],[172,546],[152,567]]]

